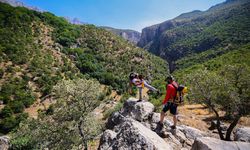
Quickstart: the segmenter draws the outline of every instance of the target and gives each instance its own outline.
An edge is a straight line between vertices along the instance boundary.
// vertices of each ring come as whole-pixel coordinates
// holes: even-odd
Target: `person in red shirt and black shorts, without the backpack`
[[[171,126],[172,129],[176,128],[177,124],[177,104],[174,103],[176,93],[177,93],[177,88],[178,84],[174,81],[174,78],[172,76],[169,76],[166,78],[167,85],[166,85],[166,96],[165,99],[163,100],[163,109],[161,112],[161,117],[159,121],[159,126],[162,128],[163,127],[163,120],[165,117],[165,113],[170,110],[170,113],[173,115],[173,121],[174,125]]]

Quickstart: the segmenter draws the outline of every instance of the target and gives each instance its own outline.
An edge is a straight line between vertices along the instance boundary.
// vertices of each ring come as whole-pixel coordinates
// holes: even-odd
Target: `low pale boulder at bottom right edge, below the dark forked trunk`
[[[245,142],[222,141],[211,137],[197,138],[191,150],[249,150],[250,144]]]

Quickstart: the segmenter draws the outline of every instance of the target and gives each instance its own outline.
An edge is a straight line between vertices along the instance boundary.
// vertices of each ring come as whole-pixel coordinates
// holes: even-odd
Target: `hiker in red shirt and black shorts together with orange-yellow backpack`
[[[160,121],[158,123],[159,127],[163,127],[163,120],[165,117],[165,113],[170,110],[170,113],[173,115],[174,124],[171,126],[172,129],[176,128],[177,124],[177,106],[178,104],[183,102],[183,95],[187,92],[187,88],[182,85],[178,85],[177,82],[174,81],[172,76],[166,78],[166,96],[163,100],[163,109],[160,116]]]

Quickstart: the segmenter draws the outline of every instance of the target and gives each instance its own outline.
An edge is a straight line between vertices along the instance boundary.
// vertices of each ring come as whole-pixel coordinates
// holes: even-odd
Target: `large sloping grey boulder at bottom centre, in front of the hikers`
[[[127,119],[116,128],[119,129],[116,133],[104,132],[100,140],[99,150],[172,150],[172,147],[155,132],[133,119]]]

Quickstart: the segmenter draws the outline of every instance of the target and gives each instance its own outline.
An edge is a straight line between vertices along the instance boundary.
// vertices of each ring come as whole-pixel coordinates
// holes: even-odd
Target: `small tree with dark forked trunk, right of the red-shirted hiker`
[[[242,116],[250,114],[250,71],[245,65],[225,66],[219,72],[200,70],[188,76],[190,98],[207,105],[216,115],[217,130],[222,140],[231,140],[231,133]],[[224,136],[218,111],[232,117]]]

